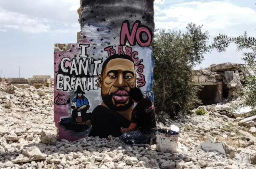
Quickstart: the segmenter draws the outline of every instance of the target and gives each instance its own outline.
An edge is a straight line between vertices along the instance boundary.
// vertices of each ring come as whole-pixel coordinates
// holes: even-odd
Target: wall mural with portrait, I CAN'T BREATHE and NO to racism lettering
[[[132,87],[140,87],[153,101],[152,31],[139,20],[133,26],[123,21],[119,37],[110,33],[111,27],[92,23],[90,29],[104,36],[93,39],[81,32],[79,44],[54,52],[54,121],[59,139],[120,136],[120,128],[130,125]]]

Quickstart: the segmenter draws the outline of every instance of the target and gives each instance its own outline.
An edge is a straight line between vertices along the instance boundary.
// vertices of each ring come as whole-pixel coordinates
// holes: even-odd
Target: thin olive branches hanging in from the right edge
[[[246,50],[250,52],[244,52],[243,58],[246,62],[244,66],[248,70],[252,70],[256,72],[256,38],[248,37],[247,33],[244,32],[243,35],[228,38],[228,36],[224,34],[219,34],[216,38],[214,38],[214,43],[210,46],[212,49],[216,49],[218,52],[225,52],[226,48],[234,43],[237,46],[238,51]],[[252,106],[252,108],[256,109],[256,77],[248,76],[245,77],[245,87],[242,95],[244,96],[245,102],[243,105]]]

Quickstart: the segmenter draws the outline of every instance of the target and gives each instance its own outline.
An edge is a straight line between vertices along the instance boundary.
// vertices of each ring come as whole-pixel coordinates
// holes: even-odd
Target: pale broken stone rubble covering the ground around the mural
[[[229,118],[234,99],[200,106],[206,115],[165,118],[180,130],[177,153],[119,138],[57,141],[53,89],[13,85],[0,90],[0,169],[255,169],[256,117]],[[253,128],[254,127],[254,128]]]

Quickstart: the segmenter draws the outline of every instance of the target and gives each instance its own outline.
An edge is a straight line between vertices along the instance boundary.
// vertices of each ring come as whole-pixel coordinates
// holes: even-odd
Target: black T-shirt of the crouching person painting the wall
[[[150,98],[142,99],[132,111],[132,123],[137,124],[142,133],[156,131],[156,111]]]

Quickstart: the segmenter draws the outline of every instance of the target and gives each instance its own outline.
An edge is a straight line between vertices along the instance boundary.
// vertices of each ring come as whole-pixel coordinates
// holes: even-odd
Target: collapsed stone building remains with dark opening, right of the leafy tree
[[[248,75],[255,76],[255,73],[245,68],[244,64],[228,62],[194,70],[192,81],[203,86],[199,99],[203,105],[210,105],[230,99],[234,92],[240,93]]]

